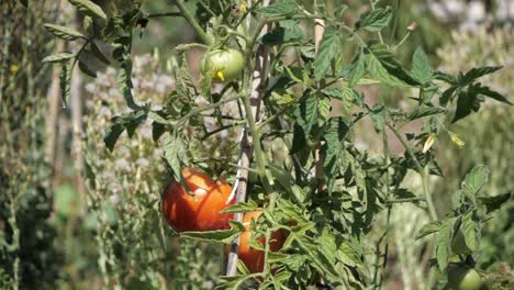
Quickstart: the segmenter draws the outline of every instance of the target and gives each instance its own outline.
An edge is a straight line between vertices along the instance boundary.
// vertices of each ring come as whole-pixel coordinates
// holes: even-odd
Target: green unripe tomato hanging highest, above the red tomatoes
[[[202,74],[212,74],[212,81],[219,83],[237,79],[244,66],[245,58],[243,54],[233,48],[209,52],[200,63]]]

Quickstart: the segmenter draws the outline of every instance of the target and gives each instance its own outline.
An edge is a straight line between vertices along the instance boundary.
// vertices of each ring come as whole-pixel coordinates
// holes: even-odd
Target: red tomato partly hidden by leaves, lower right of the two
[[[250,228],[252,220],[257,221],[261,211],[254,211],[248,212],[243,217],[243,224],[246,228]],[[264,258],[265,253],[259,249],[250,248],[248,242],[252,241],[252,236],[254,235],[253,232],[246,231],[241,234],[241,243],[239,243],[239,252],[238,256],[242,261],[245,263],[246,267],[250,272],[261,272],[264,270]],[[266,243],[265,237],[260,237],[257,239],[262,246]],[[269,248],[272,252],[279,250],[283,243],[286,242],[286,234],[283,231],[276,231],[271,233],[271,242],[269,244]]]

